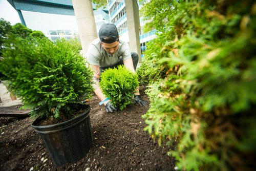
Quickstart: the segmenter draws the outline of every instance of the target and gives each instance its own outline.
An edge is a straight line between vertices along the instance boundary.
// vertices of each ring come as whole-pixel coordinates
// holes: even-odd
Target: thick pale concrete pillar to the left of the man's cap
[[[72,0],[78,33],[82,44],[82,53],[87,57],[90,43],[98,37],[91,0]]]

